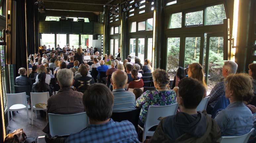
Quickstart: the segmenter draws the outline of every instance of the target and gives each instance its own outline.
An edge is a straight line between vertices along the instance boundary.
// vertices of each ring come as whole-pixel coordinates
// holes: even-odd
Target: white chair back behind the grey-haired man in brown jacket
[[[89,124],[89,119],[86,112],[72,115],[58,115],[48,113],[50,135],[63,136],[77,133],[86,128]]]

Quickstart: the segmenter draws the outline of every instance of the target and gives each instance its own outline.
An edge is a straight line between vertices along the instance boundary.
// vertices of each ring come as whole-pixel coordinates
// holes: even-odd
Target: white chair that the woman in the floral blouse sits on
[[[166,106],[149,106],[147,117],[144,123],[144,128],[138,125],[143,130],[142,142],[145,141],[146,136],[153,136],[155,131],[149,131],[149,129],[155,125],[158,125],[160,120],[159,117],[167,117],[175,115],[178,110],[178,103]]]

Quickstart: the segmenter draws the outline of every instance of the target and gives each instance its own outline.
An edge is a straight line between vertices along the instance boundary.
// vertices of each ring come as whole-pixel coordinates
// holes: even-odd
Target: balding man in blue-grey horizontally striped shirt
[[[135,95],[125,90],[127,74],[117,70],[112,73],[111,84],[113,85],[114,106],[113,112],[127,112],[136,107]]]

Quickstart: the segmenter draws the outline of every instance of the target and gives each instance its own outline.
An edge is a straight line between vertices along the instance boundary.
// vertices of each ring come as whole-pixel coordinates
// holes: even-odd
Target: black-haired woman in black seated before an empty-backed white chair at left
[[[49,92],[49,95],[52,96],[49,84],[45,83],[46,75],[45,72],[40,72],[38,74],[38,82],[33,84],[31,92]]]

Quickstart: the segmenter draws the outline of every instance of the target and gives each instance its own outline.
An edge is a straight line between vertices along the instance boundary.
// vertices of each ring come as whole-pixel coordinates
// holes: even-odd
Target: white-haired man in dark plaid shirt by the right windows
[[[226,78],[230,74],[235,74],[237,70],[237,64],[233,61],[225,61],[224,66],[222,68],[222,75]],[[207,105],[207,113],[211,114],[214,106],[216,105],[217,101],[220,97],[225,96],[225,85],[224,81],[216,84],[212,89],[211,93],[209,94],[209,102]]]

